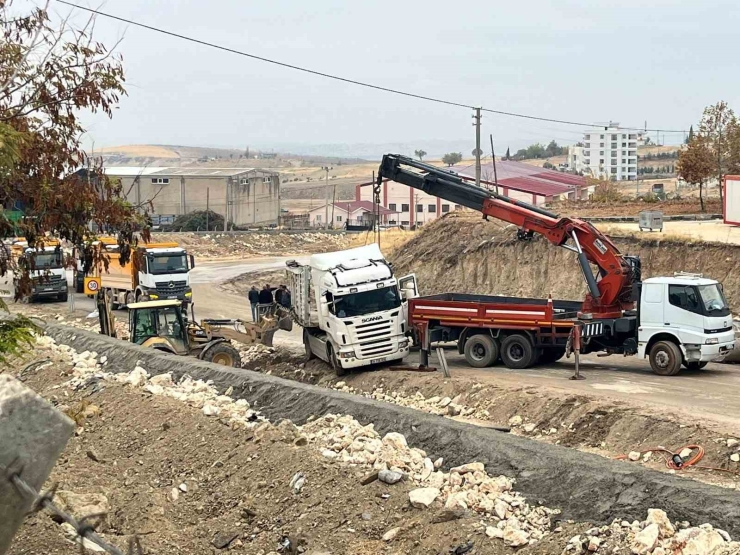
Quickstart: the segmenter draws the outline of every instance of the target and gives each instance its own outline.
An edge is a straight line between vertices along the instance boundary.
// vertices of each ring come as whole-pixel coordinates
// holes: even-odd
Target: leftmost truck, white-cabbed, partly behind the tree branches
[[[43,247],[29,247],[24,239],[12,243],[12,252],[19,265],[27,265],[31,277],[31,291],[27,299],[55,299],[65,302],[68,297],[64,252],[56,239],[45,240]]]

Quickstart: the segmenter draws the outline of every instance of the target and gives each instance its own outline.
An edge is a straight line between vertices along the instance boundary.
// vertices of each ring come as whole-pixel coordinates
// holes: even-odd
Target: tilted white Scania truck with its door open
[[[308,358],[328,362],[341,376],[408,354],[406,301],[417,294],[416,278],[396,279],[377,244],[287,267],[291,314],[303,328]]]

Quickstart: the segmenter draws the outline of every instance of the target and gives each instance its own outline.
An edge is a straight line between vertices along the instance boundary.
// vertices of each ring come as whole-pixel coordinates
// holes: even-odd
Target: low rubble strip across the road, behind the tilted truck
[[[232,256],[284,256],[286,254],[313,254],[347,248],[350,236],[346,233],[156,233],[154,241],[175,241],[196,258],[224,258]]]

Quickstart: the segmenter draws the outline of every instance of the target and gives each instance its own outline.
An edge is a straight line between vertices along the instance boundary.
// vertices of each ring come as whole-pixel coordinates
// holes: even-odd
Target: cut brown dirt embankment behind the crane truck
[[[740,312],[740,247],[678,240],[612,237],[621,252],[638,255],[643,278],[700,272],[721,281]],[[414,272],[424,295],[454,291],[582,299],[586,286],[574,253],[546,240],[518,241],[513,225],[450,214],[391,255],[398,275]]]

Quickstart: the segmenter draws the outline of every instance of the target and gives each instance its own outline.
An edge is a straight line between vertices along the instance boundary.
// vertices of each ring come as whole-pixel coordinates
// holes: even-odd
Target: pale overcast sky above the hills
[[[740,110],[735,0],[79,2],[258,56],[497,110],[678,130],[720,99]],[[51,9],[72,10],[55,1]],[[122,38],[128,96],[112,120],[86,116],[87,144],[474,147],[468,108],[331,81],[103,17],[95,32],[108,45]],[[490,113],[482,121],[497,150],[572,144],[582,132]],[[682,139],[666,134],[665,142]]]

